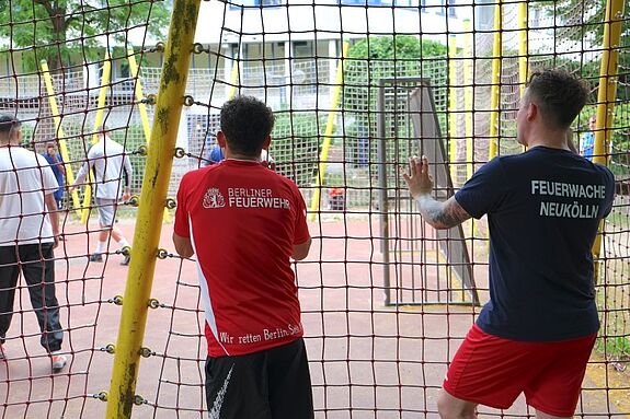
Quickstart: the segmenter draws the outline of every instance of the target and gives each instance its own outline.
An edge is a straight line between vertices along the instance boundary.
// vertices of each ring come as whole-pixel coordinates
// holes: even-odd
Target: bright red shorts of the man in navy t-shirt
[[[526,342],[468,331],[444,381],[454,397],[507,409],[520,393],[553,416],[573,416],[597,334],[553,342]]]

